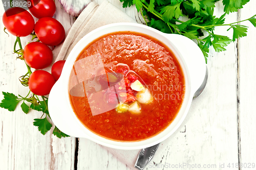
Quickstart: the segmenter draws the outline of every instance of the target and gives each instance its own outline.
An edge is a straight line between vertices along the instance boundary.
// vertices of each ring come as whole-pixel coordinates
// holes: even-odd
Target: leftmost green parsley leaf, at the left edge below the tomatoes
[[[4,99],[0,103],[0,107],[8,109],[9,111],[14,111],[17,104],[21,101],[16,95],[9,92],[2,92],[4,94]]]

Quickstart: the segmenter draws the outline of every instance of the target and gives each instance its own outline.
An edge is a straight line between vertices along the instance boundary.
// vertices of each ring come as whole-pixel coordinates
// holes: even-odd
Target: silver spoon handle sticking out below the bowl
[[[159,143],[152,147],[142,149],[138,155],[138,158],[136,160],[134,167],[136,167],[137,169],[140,169],[140,170],[143,169],[155,155],[158,146],[159,146]]]

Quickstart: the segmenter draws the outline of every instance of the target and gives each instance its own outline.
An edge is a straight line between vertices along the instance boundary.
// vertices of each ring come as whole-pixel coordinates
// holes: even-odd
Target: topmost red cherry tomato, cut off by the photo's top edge
[[[28,0],[31,3],[29,11],[36,18],[52,17],[56,11],[56,6],[53,0]]]

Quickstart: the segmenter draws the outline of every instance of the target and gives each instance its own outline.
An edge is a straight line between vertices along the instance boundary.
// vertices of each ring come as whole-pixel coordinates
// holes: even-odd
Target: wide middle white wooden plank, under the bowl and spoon
[[[112,3],[118,6],[117,2]],[[216,9],[217,16],[223,13],[220,4]],[[237,21],[237,13],[227,16],[226,22],[233,21]],[[232,36],[226,28],[216,29],[216,33]],[[170,137],[165,150],[146,169],[159,169],[166,163],[164,169],[172,169],[172,164],[179,163],[209,165],[212,169],[225,163],[222,169],[229,169],[227,163],[238,162],[236,43],[231,43],[226,52],[216,53],[212,48],[210,51],[209,80],[205,91],[193,102],[184,123]],[[118,163],[119,160],[100,145],[87,139],[79,140],[78,169],[129,168]]]

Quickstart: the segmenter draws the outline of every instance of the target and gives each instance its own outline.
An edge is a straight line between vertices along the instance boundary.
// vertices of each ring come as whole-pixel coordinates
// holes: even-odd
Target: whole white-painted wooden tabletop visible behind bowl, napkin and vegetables
[[[102,0],[97,0],[101,3]],[[135,7],[123,9],[118,0],[110,1],[123,12],[140,22]],[[58,19],[67,31],[74,22],[59,4],[55,2]],[[255,14],[256,2],[250,1],[240,13],[232,13],[226,22],[235,22]],[[0,8],[2,20],[4,9]],[[215,14],[223,12],[221,2]],[[180,128],[171,136],[164,152],[155,157],[146,169],[253,169],[249,163],[256,163],[256,120],[254,103],[255,28],[249,26],[248,36],[228,45],[227,51],[215,53],[210,49],[208,59],[208,83],[204,92],[194,100],[187,117]],[[1,21],[0,30],[4,26]],[[217,28],[215,33],[232,36],[232,31]],[[18,77],[26,73],[23,61],[12,55],[15,37],[8,37],[0,31],[0,90],[26,95],[28,88],[20,85]],[[22,38],[23,47],[28,38]],[[239,59],[239,60],[238,60]],[[3,95],[0,95],[0,100]],[[239,99],[239,104],[238,104]],[[31,111],[28,115],[18,106],[14,112],[0,109],[0,169],[74,169],[76,139],[58,139],[48,132],[41,135],[33,126],[33,119],[41,113]],[[241,140],[241,141],[240,141]],[[239,150],[240,149],[240,150]],[[245,163],[247,168],[236,167]],[[186,166],[172,167],[186,163]],[[230,163],[230,164],[229,164]],[[233,167],[232,167],[233,163]],[[189,166],[189,165],[190,166]],[[195,168],[200,164],[201,168]],[[228,167],[228,164],[230,167]],[[161,166],[166,165],[164,168]],[[183,164],[184,165],[184,164]],[[193,167],[194,165],[194,167]],[[223,167],[224,165],[224,167]],[[216,167],[216,168],[215,168]],[[252,167],[252,165],[251,165]],[[113,154],[87,139],[79,139],[77,169],[130,169]]]

